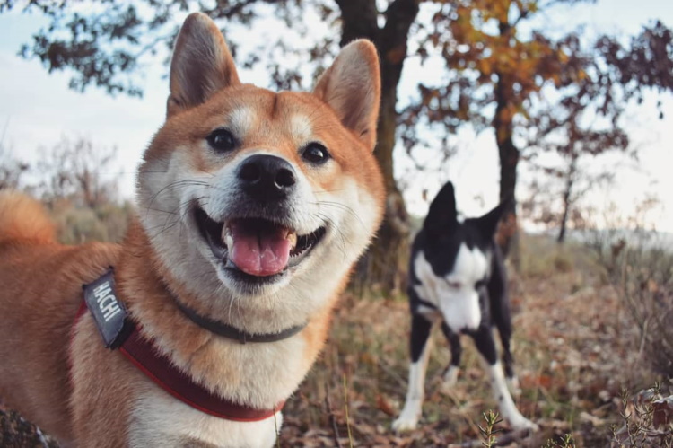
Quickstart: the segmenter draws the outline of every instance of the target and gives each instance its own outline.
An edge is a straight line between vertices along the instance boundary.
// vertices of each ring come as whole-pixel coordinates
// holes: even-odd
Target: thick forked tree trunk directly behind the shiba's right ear
[[[400,268],[406,267],[409,245],[408,215],[393,171],[396,143],[398,82],[406,57],[406,40],[418,13],[418,0],[395,0],[384,13],[386,24],[378,25],[375,0],[337,0],[342,12],[341,46],[366,38],[379,51],[381,101],[377,127],[378,143],[374,152],[386,184],[386,215],[371,250],[358,269],[358,277],[367,285],[377,285],[384,294],[400,286]]]

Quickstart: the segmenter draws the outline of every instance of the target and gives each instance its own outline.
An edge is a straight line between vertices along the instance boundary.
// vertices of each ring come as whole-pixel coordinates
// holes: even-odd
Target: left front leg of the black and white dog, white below
[[[405,406],[398,419],[392,424],[396,431],[415,429],[418,418],[421,417],[421,408],[425,397],[425,371],[430,358],[432,341],[430,333],[433,322],[428,321],[420,314],[413,314],[411,318],[411,365],[409,365],[409,386],[406,390]]]

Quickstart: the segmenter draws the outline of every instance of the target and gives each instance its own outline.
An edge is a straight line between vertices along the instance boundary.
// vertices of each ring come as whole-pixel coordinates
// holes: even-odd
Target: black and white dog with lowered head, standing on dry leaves
[[[459,222],[450,182],[433,199],[423,229],[415,237],[409,263],[411,365],[405,406],[392,425],[397,431],[414,429],[421,416],[430,334],[437,325],[441,325],[451,347],[444,384],[451,386],[456,381],[459,335],[468,334],[484,357],[501,416],[515,429],[538,427],[520,414],[505,381],[505,375],[508,380],[515,380],[510,353],[510,301],[503,255],[494,242],[505,206],[506,202],[484,216]],[[504,372],[493,326],[498,328],[503,342]]]

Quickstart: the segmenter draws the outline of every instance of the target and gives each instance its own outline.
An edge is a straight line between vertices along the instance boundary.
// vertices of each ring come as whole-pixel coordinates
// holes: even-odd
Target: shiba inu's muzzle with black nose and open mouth
[[[300,233],[296,227],[299,179],[291,163],[270,154],[254,154],[234,171],[236,191],[215,218],[195,201],[194,219],[214,257],[228,275],[258,282],[298,265],[325,236],[319,226]]]

